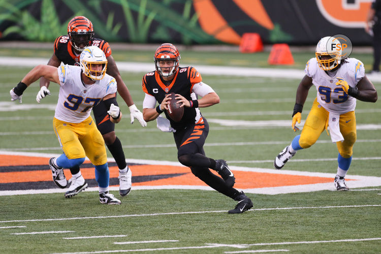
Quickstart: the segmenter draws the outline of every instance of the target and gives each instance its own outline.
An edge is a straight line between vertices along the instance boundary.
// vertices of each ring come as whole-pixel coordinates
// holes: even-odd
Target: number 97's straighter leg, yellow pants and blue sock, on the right
[[[89,118],[91,119],[91,117]],[[120,200],[109,193],[110,172],[103,137],[94,124],[85,124],[85,126],[86,134],[80,137],[80,142],[85,149],[86,156],[95,167],[96,181],[99,186],[99,200],[102,204],[119,205]]]

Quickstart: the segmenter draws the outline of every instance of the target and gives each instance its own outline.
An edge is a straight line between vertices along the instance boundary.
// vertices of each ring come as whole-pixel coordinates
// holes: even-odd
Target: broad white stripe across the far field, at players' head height
[[[35,67],[37,65],[46,65],[48,58],[31,58],[31,57],[0,57],[1,66],[14,67]],[[306,59],[307,61],[308,59]],[[119,71],[145,73],[154,70],[155,66],[152,62],[124,62],[117,61]],[[187,66],[186,63],[183,66]],[[302,79],[304,70],[298,69],[275,69],[275,68],[247,68],[234,66],[205,66],[192,65],[200,73],[208,75],[224,75],[224,76],[240,76],[240,77],[265,77],[265,78],[288,78]],[[381,75],[367,75],[372,82],[381,82]]]

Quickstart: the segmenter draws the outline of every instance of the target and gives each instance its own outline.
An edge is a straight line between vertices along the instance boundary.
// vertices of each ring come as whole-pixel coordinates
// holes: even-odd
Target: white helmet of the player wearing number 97
[[[91,80],[101,80],[106,74],[107,58],[105,53],[97,46],[86,47],[80,57],[79,64],[83,73]],[[102,64],[102,70],[96,70],[93,65]]]

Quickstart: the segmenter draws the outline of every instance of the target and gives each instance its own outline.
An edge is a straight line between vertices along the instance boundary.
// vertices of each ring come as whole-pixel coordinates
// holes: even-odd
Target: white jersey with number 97
[[[116,92],[116,80],[105,75],[94,84],[84,85],[81,79],[82,68],[61,65],[58,67],[60,82],[58,103],[54,117],[61,121],[79,123],[89,117],[92,107],[96,106],[107,94]]]

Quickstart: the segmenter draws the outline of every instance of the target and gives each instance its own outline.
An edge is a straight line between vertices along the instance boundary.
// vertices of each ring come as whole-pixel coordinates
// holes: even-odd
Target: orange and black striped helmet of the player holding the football
[[[164,43],[158,47],[153,56],[155,68],[158,74],[163,77],[172,76],[179,69],[180,53],[171,43]],[[172,66],[164,65],[164,61],[173,61]]]

